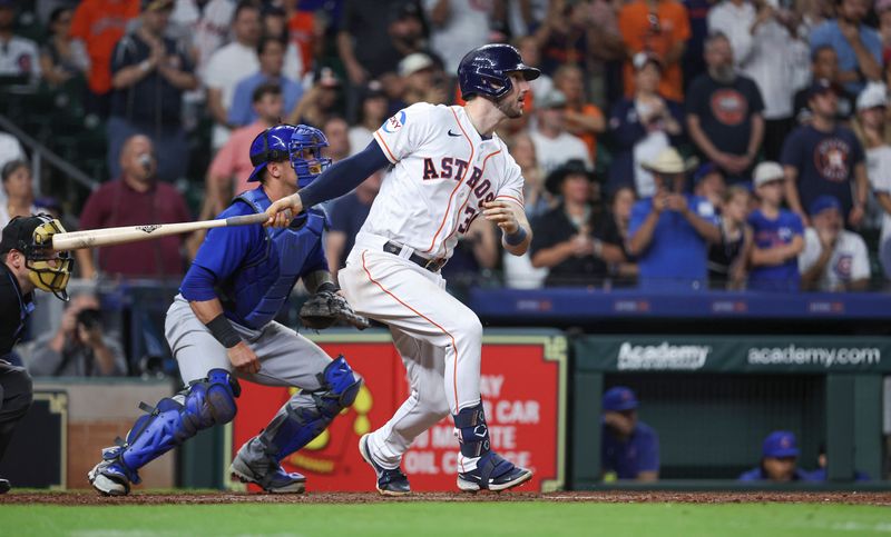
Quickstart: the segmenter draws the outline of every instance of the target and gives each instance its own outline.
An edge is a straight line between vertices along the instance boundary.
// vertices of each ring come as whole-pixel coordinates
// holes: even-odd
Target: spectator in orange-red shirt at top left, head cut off
[[[71,37],[84,42],[90,57],[88,111],[108,116],[111,52],[124,37],[127,22],[137,17],[139,0],[84,0],[75,10]]]

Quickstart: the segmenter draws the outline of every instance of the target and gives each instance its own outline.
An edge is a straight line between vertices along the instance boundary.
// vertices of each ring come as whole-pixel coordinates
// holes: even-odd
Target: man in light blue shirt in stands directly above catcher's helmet
[[[282,88],[284,112],[290,113],[300,102],[303,88],[295,81],[282,74],[285,64],[285,43],[278,39],[264,37],[257,43],[260,71],[245,78],[235,87],[229,108],[229,123],[237,126],[251,125],[257,119],[257,113],[252,106],[254,90],[263,83],[276,83]]]

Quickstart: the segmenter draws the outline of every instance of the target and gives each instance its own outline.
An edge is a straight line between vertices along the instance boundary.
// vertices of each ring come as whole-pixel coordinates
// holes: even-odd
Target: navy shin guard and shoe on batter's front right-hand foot
[[[477,468],[458,474],[458,488],[468,493],[477,490],[506,490],[532,478],[532,473],[515,466],[491,450],[489,427],[482,402],[464,408],[452,416],[458,429],[461,455],[477,458]]]

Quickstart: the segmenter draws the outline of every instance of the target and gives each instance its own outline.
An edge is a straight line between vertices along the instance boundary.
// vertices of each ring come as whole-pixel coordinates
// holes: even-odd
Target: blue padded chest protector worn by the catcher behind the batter
[[[235,199],[256,212],[264,212],[272,205],[262,188],[243,192]],[[324,227],[324,212],[309,209],[287,228],[264,229],[265,253],[233,277],[231,296],[238,322],[260,329],[275,318],[307,268],[311,253],[322,248]]]

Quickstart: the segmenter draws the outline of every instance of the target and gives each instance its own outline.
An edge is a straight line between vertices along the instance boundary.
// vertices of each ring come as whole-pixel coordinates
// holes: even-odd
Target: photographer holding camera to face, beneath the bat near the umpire
[[[71,299],[56,334],[47,334],[26,356],[31,375],[48,377],[116,377],[127,374],[120,345],[105,334],[99,300],[92,295]]]

